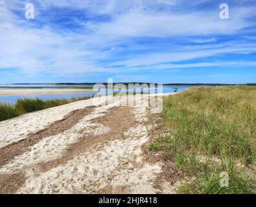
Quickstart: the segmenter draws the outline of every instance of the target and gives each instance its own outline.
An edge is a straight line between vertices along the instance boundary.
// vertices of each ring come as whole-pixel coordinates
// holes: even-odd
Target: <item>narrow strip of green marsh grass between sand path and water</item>
[[[33,111],[40,111],[42,109],[48,109],[56,107],[58,105],[64,105],[71,102],[77,102],[80,100],[87,100],[90,97],[80,97],[71,99],[54,99],[54,100],[41,100],[40,98],[20,98],[14,105],[10,103],[0,103],[0,121],[14,118]]]

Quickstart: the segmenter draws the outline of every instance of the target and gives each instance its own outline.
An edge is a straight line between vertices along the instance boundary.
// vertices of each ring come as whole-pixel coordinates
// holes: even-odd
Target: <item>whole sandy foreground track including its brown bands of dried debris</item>
[[[148,102],[141,96],[141,103]],[[145,147],[156,123],[146,104],[101,98],[0,122],[1,193],[175,193]]]

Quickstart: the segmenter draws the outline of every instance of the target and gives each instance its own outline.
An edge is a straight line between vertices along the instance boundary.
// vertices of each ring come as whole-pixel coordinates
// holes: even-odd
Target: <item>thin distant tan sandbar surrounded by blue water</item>
[[[0,95],[18,94],[56,94],[56,93],[80,93],[89,92],[90,89],[19,89],[19,90],[0,90]]]

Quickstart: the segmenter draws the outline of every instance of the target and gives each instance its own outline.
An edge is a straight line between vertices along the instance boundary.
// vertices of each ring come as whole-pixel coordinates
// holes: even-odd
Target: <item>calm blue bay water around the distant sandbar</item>
[[[0,85],[0,86],[12,86],[12,87],[65,87],[65,86],[91,86],[91,85]],[[191,85],[164,85],[163,86],[163,93],[172,93],[174,92],[174,87],[178,88],[178,92],[184,91],[185,89],[192,87]],[[6,89],[0,89],[6,90]],[[13,89],[12,89],[13,90]],[[31,89],[30,89],[31,90]],[[101,89],[104,91],[104,89]],[[119,91],[126,91],[125,89]],[[114,92],[119,92],[115,90]],[[128,91],[133,91],[132,89]],[[91,92],[82,92],[82,93],[58,93],[58,94],[19,94],[19,95],[0,95],[0,102],[7,102],[7,103],[16,103],[17,99],[19,98],[41,98],[43,100],[51,100],[51,99],[62,99],[62,98],[78,98],[83,96],[94,96],[98,91],[91,91]],[[104,93],[104,92],[103,92]],[[156,89],[157,93],[157,89]]]

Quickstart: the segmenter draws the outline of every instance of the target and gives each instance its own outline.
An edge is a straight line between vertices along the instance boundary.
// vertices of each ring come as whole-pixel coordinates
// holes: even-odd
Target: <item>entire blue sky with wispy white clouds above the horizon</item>
[[[0,0],[0,83],[255,83],[255,11],[256,0]]]

